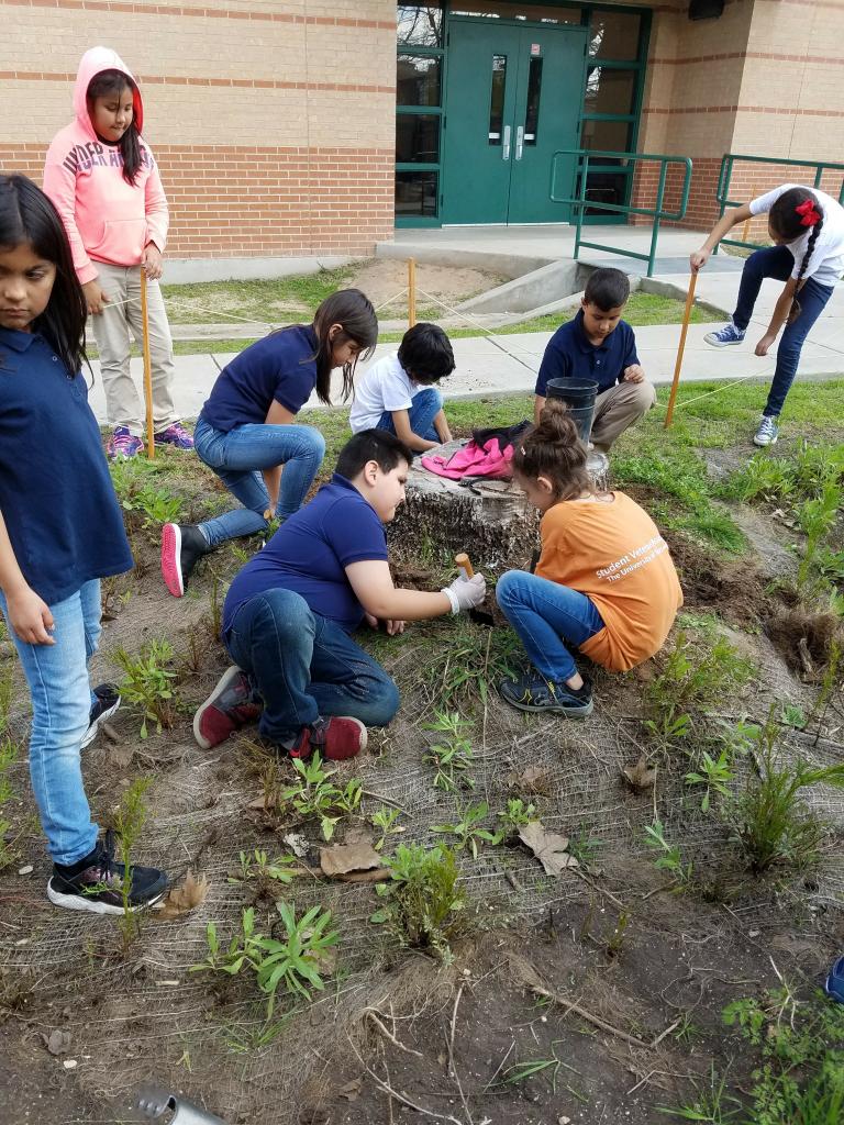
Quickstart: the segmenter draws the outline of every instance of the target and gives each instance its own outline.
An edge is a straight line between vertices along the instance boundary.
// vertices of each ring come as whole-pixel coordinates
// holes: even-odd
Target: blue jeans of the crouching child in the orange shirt
[[[508,570],[495,586],[501,611],[528,658],[546,680],[571,680],[577,666],[566,645],[580,648],[603,629],[595,603],[568,586],[524,570]]]

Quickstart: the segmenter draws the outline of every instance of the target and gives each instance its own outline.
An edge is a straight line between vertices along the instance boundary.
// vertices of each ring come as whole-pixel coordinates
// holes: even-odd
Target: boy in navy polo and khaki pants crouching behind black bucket
[[[545,406],[549,379],[592,379],[598,384],[592,444],[602,453],[656,402],[636,354],[636,336],[621,313],[630,281],[621,270],[595,270],[586,282],[581,308],[560,325],[545,349],[536,385],[533,417]]]

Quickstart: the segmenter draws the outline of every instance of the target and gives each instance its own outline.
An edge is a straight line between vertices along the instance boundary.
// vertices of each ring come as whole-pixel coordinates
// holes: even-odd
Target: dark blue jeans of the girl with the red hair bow
[[[766,250],[756,250],[751,254],[742,270],[738,304],[733,314],[733,323],[737,328],[746,328],[751,323],[753,306],[756,304],[763,278],[788,281],[793,269],[794,255],[788,246],[770,246]],[[797,375],[797,364],[800,362],[803,342],[833,292],[832,286],[818,285],[815,278],[809,278],[798,292],[797,299],[802,312],[793,324],[785,325],[780,346],[776,349],[774,377],[767,393],[765,408],[762,412],[767,417],[778,417],[782,411],[785,396]]]

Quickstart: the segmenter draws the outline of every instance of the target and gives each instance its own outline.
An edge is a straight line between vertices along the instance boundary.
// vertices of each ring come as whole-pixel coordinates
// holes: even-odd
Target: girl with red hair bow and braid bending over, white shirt
[[[794,381],[803,341],[844,272],[844,207],[817,188],[782,183],[724,215],[700,250],[691,255],[692,271],[697,273],[706,266],[731,227],[764,214],[774,245],[751,254],[742,271],[733,320],[703,339],[713,348],[742,343],[763,278],[785,282],[767,331],[756,344],[756,354],[766,356],[785,324],[767,402],[753,439],[756,446],[773,446],[779,435],[776,420]]]

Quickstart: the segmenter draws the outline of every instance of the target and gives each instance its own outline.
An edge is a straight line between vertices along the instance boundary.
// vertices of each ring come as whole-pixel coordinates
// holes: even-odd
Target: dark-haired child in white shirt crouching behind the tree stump
[[[442,392],[434,384],[454,369],[455,354],[442,328],[414,324],[396,354],[385,356],[356,380],[349,415],[352,433],[388,430],[414,453],[451,441]]]

